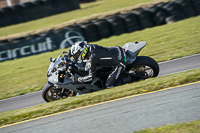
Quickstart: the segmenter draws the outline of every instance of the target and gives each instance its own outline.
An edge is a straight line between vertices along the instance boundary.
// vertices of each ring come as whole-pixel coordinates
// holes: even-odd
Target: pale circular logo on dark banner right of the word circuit
[[[72,35],[70,35],[70,34],[72,34]],[[75,34],[75,36],[73,36],[73,34]],[[73,39],[75,41],[73,41]],[[69,45],[73,45],[77,41],[84,41],[84,37],[79,32],[68,31],[65,34],[65,40],[63,40],[60,44],[60,48],[64,49],[64,48],[68,47]]]

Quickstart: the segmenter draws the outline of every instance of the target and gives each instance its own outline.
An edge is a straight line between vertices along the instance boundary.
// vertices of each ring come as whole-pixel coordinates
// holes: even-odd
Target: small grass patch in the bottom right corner
[[[155,129],[145,129],[134,133],[200,133],[200,120],[176,125],[166,125]]]

